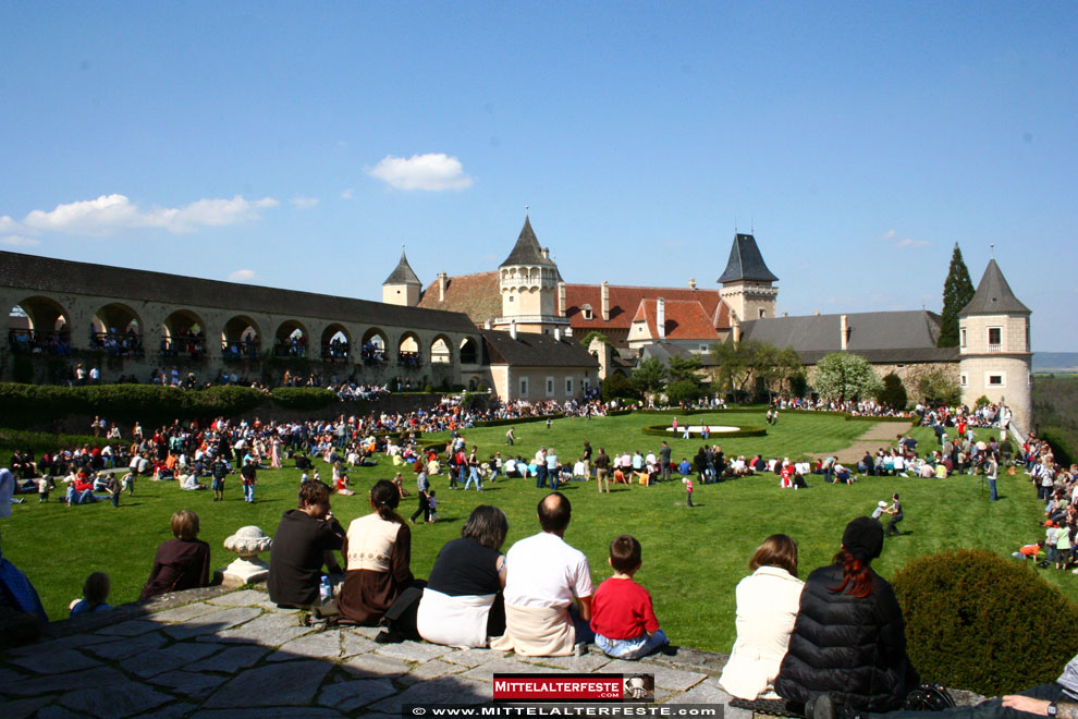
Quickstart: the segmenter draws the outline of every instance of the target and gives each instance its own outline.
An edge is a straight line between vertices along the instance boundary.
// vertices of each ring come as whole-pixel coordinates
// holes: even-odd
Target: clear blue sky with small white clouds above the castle
[[[939,310],[1078,350],[1078,4],[0,4],[0,248],[380,298],[494,269]]]

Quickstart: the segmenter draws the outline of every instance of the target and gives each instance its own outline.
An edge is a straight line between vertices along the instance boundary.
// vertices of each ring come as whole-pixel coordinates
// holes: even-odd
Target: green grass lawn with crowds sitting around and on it
[[[716,413],[697,415],[712,424],[761,425],[762,413]],[[542,443],[554,447],[563,459],[578,456],[585,439],[597,450],[647,451],[658,448],[660,438],[641,434],[640,427],[661,424],[664,417],[628,415],[592,419],[555,421],[547,430],[542,423],[517,425],[515,453],[534,455]],[[685,418],[682,417],[684,423]],[[767,437],[712,441],[727,455],[755,454],[800,456],[806,452],[835,451],[872,426],[867,422],[845,422],[823,414],[786,413]],[[908,425],[894,424],[895,434]],[[920,447],[934,441],[931,431],[914,431]],[[505,427],[466,430],[468,444],[478,444],[480,455],[504,446]],[[672,439],[674,459],[691,456],[699,440]],[[7,452],[0,449],[0,452]],[[329,466],[319,464],[323,477]],[[334,497],[333,511],[345,526],[368,511],[366,489],[373,482],[392,477],[394,468],[383,462],[378,467],[354,472],[355,497]],[[66,508],[57,501],[39,505],[36,496],[13,508],[12,516],[0,523],[4,557],[27,573],[46,604],[49,616],[61,618],[68,604],[81,593],[82,582],[91,571],[109,572],[113,580],[112,604],[137,598],[158,544],[168,539],[169,517],[181,508],[196,511],[201,519],[201,538],[213,552],[213,566],[233,559],[221,543],[246,524],[257,524],[273,533],[282,512],[295,505],[299,473],[295,470],[261,472],[257,502],[242,501],[237,478],[230,478],[226,501],[212,502],[209,491],[182,492],[174,483],[140,479],[135,496],[123,498],[119,510],[111,504]],[[414,488],[413,476],[405,485]],[[482,493],[449,491],[444,476],[433,486],[441,501],[440,522],[414,527],[412,568],[426,576],[442,545],[458,535],[461,524],[479,503],[501,507],[510,517],[505,549],[538,531],[536,502],[544,493],[532,480],[502,480]],[[768,535],[782,532],[800,547],[801,576],[828,563],[837,551],[842,529],[854,516],[869,513],[875,502],[903,495],[905,535],[887,541],[877,569],[891,576],[914,557],[940,549],[980,547],[1009,555],[1019,545],[1036,541],[1041,508],[1032,486],[1022,473],[1001,476],[1003,499],[992,503],[980,479],[957,476],[944,480],[904,477],[862,478],[853,487],[824,486],[809,478],[812,486],[799,491],[780,490],[775,477],[758,476],[716,485],[697,486],[694,502],[685,507],[681,483],[657,487],[621,487],[599,496],[595,483],[571,483],[565,495],[573,502],[573,522],[566,540],[587,553],[592,578],[598,584],[610,575],[607,546],[623,533],[635,535],[644,545],[644,569],[637,578],[650,589],[663,629],[676,644],[700,649],[728,651],[734,641],[734,586],[748,573],[747,562],[756,546]],[[414,490],[413,490],[414,493]],[[409,497],[403,514],[415,510]],[[512,570],[511,570],[512,571]],[[1078,597],[1078,576],[1041,572],[1071,598]]]

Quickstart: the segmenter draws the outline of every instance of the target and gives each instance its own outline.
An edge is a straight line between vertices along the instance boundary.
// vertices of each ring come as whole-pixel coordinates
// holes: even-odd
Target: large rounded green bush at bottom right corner
[[[1027,562],[943,551],[912,560],[894,588],[923,681],[1002,696],[1054,681],[1078,650],[1078,606]]]

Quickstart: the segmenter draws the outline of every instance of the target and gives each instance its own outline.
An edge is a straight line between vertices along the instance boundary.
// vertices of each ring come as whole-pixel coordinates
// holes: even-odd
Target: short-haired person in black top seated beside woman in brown
[[[344,529],[330,512],[329,493],[321,482],[303,483],[298,509],[285,512],[277,526],[266,587],[280,607],[315,606],[327,552],[344,546]]]

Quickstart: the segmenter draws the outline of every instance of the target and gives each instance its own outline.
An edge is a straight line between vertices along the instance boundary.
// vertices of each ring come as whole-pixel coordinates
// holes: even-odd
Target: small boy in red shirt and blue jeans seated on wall
[[[651,608],[651,595],[633,581],[640,569],[640,543],[624,534],[610,543],[614,576],[591,599],[596,644],[616,659],[639,659],[669,644]]]

